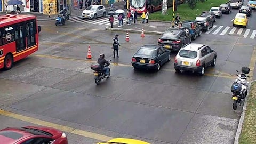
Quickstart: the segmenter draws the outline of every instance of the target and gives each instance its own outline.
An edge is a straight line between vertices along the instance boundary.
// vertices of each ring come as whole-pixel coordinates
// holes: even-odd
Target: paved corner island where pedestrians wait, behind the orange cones
[[[162,35],[164,31],[170,28],[172,24],[170,22],[153,22],[149,21],[146,24],[141,24],[140,21],[137,21],[136,24],[131,21],[131,25],[127,25],[124,23],[123,27],[118,27],[118,25],[114,25],[113,28],[111,26],[107,26],[106,30],[113,30],[113,31],[129,31],[132,33],[141,33],[142,28],[145,34],[158,34]]]

